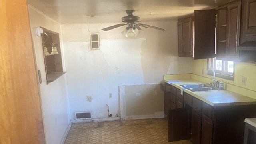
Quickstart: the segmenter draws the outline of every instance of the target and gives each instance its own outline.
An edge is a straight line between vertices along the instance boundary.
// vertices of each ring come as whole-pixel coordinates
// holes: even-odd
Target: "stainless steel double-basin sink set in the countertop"
[[[220,91],[224,90],[223,88],[214,88],[210,84],[183,84],[180,85],[184,88],[191,90],[192,92],[207,92],[207,91]]]

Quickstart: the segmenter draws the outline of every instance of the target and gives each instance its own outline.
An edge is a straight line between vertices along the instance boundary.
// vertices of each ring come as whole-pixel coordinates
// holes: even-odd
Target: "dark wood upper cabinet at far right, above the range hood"
[[[243,0],[242,6],[241,44],[256,41],[256,0]]]

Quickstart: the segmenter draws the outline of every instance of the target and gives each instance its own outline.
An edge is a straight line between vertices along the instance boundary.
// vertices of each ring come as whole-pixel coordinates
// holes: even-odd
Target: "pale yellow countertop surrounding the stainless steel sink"
[[[204,84],[198,80],[192,78],[188,79],[178,79],[180,82],[171,83],[172,86],[182,89],[182,84]],[[169,83],[170,80],[164,80],[164,82]],[[183,89],[183,92],[186,92],[211,106],[233,106],[233,105],[250,105],[256,104],[256,99],[250,98],[241,94],[237,94],[228,90],[220,91],[207,91],[207,92],[192,92],[187,89]]]

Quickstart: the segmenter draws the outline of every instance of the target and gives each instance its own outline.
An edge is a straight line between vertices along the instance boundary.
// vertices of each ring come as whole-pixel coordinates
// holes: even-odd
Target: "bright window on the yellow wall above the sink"
[[[234,80],[234,62],[227,60],[208,59],[208,68],[215,71],[215,75],[220,78]]]

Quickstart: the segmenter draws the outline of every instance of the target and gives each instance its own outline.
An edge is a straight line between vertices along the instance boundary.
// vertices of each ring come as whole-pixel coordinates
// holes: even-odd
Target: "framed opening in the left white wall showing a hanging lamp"
[[[60,37],[56,32],[42,28],[42,48],[44,52],[44,64],[47,84],[53,82],[64,73],[60,51]]]

